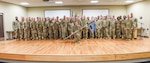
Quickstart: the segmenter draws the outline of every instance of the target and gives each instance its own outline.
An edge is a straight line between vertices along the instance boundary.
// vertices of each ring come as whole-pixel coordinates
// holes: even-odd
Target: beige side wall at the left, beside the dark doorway
[[[19,18],[26,16],[26,8],[14,4],[9,4],[0,1],[0,13],[4,14],[4,35],[7,38],[6,31],[12,31],[12,22],[15,20],[15,16]]]

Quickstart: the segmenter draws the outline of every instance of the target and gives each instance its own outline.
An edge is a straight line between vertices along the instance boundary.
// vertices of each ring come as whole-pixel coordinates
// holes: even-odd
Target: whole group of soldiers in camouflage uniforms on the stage
[[[19,40],[43,39],[126,39],[137,38],[137,19],[128,16],[66,17],[63,18],[24,18],[13,22],[14,38]],[[95,21],[96,30],[90,31],[88,24]]]

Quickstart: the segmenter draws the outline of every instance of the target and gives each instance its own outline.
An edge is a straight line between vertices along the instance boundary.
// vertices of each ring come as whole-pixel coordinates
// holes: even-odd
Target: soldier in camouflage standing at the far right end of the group
[[[132,21],[132,39],[136,39],[137,38],[137,19],[133,18],[133,14],[131,13],[131,17],[130,20]]]

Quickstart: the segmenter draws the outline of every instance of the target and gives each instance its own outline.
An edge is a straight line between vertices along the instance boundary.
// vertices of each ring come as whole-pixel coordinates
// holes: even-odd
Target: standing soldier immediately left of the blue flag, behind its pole
[[[86,18],[85,16],[81,18],[81,26],[84,27],[82,30],[83,38],[87,39],[88,38],[88,21],[85,18]]]

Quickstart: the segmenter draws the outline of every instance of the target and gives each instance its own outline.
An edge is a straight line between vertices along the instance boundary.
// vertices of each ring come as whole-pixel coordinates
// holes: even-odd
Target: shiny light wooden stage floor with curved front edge
[[[115,61],[150,58],[150,39],[7,40],[0,59],[27,61]]]

